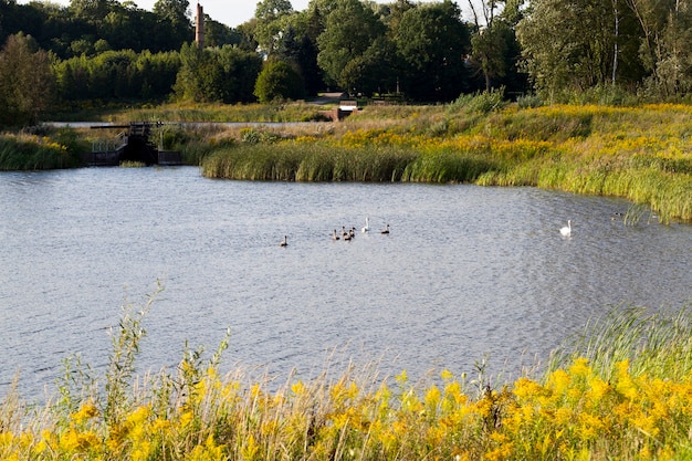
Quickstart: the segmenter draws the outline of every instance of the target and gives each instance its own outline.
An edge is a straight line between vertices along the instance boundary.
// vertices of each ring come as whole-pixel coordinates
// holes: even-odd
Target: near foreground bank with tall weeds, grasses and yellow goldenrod
[[[69,360],[55,398],[0,404],[0,459],[672,460],[692,455],[692,317],[622,308],[545,371],[497,383],[449,370],[411,383],[371,367],[269,379],[220,376],[228,337],[176,370],[134,374],[156,296],[128,305],[102,375]],[[492,385],[491,385],[492,384]]]

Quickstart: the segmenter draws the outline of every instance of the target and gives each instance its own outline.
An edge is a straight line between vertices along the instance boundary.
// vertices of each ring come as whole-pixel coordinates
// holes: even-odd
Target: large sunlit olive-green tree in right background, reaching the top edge
[[[516,34],[533,84],[553,101],[594,86],[640,82],[640,42],[632,25],[631,10],[614,0],[532,0]]]

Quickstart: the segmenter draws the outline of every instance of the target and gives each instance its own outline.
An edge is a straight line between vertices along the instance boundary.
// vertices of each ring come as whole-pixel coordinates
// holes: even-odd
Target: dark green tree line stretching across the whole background
[[[263,0],[237,28],[205,18],[193,43],[188,0],[0,0],[0,124],[55,104],[298,99],[327,88],[449,102],[503,88],[681,98],[692,87],[688,0]],[[40,88],[40,91],[36,91]],[[31,93],[31,94],[27,94]]]

